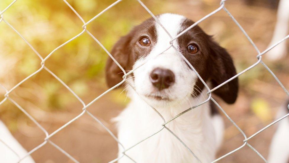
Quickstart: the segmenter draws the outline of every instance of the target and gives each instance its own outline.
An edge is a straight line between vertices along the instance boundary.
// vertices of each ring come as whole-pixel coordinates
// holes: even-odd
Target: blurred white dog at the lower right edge
[[[289,100],[280,107],[277,113],[276,119],[289,113],[288,110]],[[289,162],[289,118],[286,117],[278,122],[277,130],[273,135],[272,142],[270,145],[268,162],[269,163],[288,163]]]

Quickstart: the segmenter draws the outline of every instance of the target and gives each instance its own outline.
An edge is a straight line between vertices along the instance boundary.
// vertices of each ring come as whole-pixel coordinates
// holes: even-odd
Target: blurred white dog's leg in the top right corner
[[[273,38],[269,44],[269,46],[274,43],[280,41],[286,35],[288,35],[289,28],[289,1],[288,0],[280,0],[277,11],[277,23],[274,29]],[[286,41],[283,41],[275,48],[270,50],[266,57],[272,61],[278,60],[284,57],[287,53],[286,49]]]

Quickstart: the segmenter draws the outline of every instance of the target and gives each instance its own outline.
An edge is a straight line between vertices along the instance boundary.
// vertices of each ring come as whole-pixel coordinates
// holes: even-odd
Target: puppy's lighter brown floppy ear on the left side
[[[129,67],[129,58],[131,56],[130,40],[130,35],[121,37],[111,51],[111,55],[125,70],[131,69]],[[106,62],[105,73],[106,83],[109,87],[113,87],[123,80],[123,71],[110,57],[108,57]]]

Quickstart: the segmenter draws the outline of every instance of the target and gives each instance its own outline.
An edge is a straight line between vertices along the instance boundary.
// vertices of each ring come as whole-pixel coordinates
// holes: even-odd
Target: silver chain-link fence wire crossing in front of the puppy
[[[229,15],[230,18],[232,18],[232,20],[235,22],[235,24],[240,28],[240,30],[243,32],[243,34],[245,35],[245,37],[248,39],[248,41],[252,44],[252,46],[255,48],[255,50],[257,51],[257,61],[256,63],[252,64],[250,67],[244,69],[243,71],[241,71],[240,73],[238,73],[237,75],[231,77],[230,79],[228,79],[227,81],[225,81],[224,83],[221,83],[219,86],[216,86],[213,89],[210,89],[208,87],[208,85],[205,83],[205,81],[200,77],[200,75],[198,74],[198,72],[195,70],[195,68],[190,64],[189,61],[187,61],[187,59],[183,56],[180,55],[184,61],[190,66],[190,68],[192,68],[192,70],[196,73],[196,75],[199,77],[199,79],[201,80],[201,82],[204,84],[205,88],[207,89],[207,95],[208,98],[201,102],[198,105],[195,105],[191,108],[188,108],[187,110],[185,110],[182,113],[179,113],[178,115],[176,115],[175,117],[171,118],[168,121],[165,121],[165,119],[163,118],[163,116],[154,108],[152,107],[152,109],[158,113],[158,115],[160,116],[160,118],[162,118],[163,120],[163,124],[161,124],[162,128],[160,130],[158,130],[157,132],[155,132],[154,134],[151,134],[149,137],[144,138],[143,140],[141,140],[140,142],[132,145],[129,148],[124,148],[124,146],[121,144],[121,142],[118,140],[118,138],[94,115],[92,115],[88,110],[86,110],[87,107],[89,107],[91,104],[93,104],[95,101],[97,101],[98,99],[100,99],[102,96],[104,96],[105,94],[107,94],[109,91],[113,90],[114,88],[120,86],[121,84],[123,84],[124,82],[128,82],[127,76],[129,74],[131,74],[132,72],[134,72],[135,69],[139,68],[136,67],[135,69],[132,69],[129,72],[126,72],[123,67],[121,67],[121,65],[118,63],[118,61],[115,60],[115,58],[113,58],[113,56],[108,52],[108,50],[98,41],[97,38],[95,38],[93,36],[93,34],[91,34],[87,29],[86,26],[89,25],[89,23],[91,23],[93,20],[97,19],[100,15],[102,15],[104,12],[106,12],[107,10],[109,10],[110,8],[112,8],[113,6],[117,5],[119,2],[121,2],[122,0],[117,0],[115,1],[113,4],[111,4],[110,6],[108,6],[106,9],[102,10],[101,12],[99,12],[99,14],[97,14],[96,16],[94,16],[93,18],[91,18],[89,21],[85,22],[84,19],[78,14],[78,12],[66,1],[63,0],[65,4],[68,5],[68,7],[70,7],[70,9],[77,15],[77,17],[82,21],[83,26],[82,26],[82,31],[77,34],[76,36],[74,36],[73,38],[69,39],[68,41],[64,42],[62,45],[58,46],[57,48],[55,48],[54,50],[52,50],[51,53],[49,53],[45,58],[42,58],[41,55],[35,50],[35,48],[33,48],[33,46],[11,25],[9,24],[5,19],[4,19],[4,12],[6,10],[9,9],[9,7],[11,7],[17,0],[12,1],[11,4],[9,4],[3,11],[0,11],[0,23],[4,22],[6,23],[12,30],[14,30],[27,44],[28,46],[33,50],[33,52],[40,58],[41,60],[41,67],[33,72],[31,75],[29,75],[28,77],[26,77],[25,79],[23,79],[22,81],[20,81],[17,85],[15,85],[13,88],[11,88],[10,90],[7,90],[3,85],[0,84],[1,88],[5,90],[5,94],[4,94],[4,99],[0,102],[0,105],[3,104],[5,101],[10,101],[12,102],[16,107],[18,107],[25,115],[27,115],[27,117],[33,121],[34,124],[36,124],[36,126],[39,127],[39,129],[41,129],[44,134],[45,134],[45,138],[43,143],[39,144],[38,146],[36,146],[35,148],[33,148],[31,151],[29,151],[25,156],[20,157],[17,155],[17,153],[9,147],[9,144],[6,144],[4,141],[1,140],[0,138],[0,142],[3,143],[4,145],[6,145],[11,151],[13,151],[15,153],[15,156],[19,158],[20,162],[21,160],[25,159],[25,157],[29,156],[31,153],[35,152],[36,150],[38,150],[39,148],[41,148],[42,146],[46,145],[47,143],[51,144],[52,146],[54,146],[56,149],[58,149],[60,152],[62,152],[65,156],[67,156],[70,160],[72,160],[73,162],[78,162],[75,158],[73,158],[69,153],[67,153],[65,150],[63,150],[62,148],[60,148],[58,145],[56,145],[55,143],[53,143],[51,140],[49,140],[52,136],[54,136],[54,134],[56,134],[57,132],[59,132],[60,130],[64,129],[65,127],[67,127],[69,124],[71,124],[73,121],[75,121],[76,119],[80,118],[82,115],[84,114],[88,114],[89,116],[91,116],[97,123],[99,123],[112,137],[113,139],[123,148],[123,154],[110,161],[110,162],[117,162],[119,159],[125,157],[128,157],[129,159],[131,159],[133,162],[136,162],[135,160],[133,160],[133,158],[131,158],[130,156],[128,156],[126,154],[126,151],[130,150],[131,148],[134,148],[135,146],[137,146],[139,143],[142,143],[144,140],[149,139],[150,137],[152,137],[155,134],[158,134],[158,132],[160,132],[163,129],[168,130],[169,132],[171,132],[171,134],[173,134],[179,141],[180,143],[182,143],[184,145],[184,147],[187,148],[188,151],[190,151],[190,153],[200,162],[200,160],[198,159],[198,156],[196,156],[191,150],[190,148],[176,135],[174,134],[174,132],[172,132],[167,126],[166,124],[168,124],[169,122],[173,121],[175,118],[181,116],[182,114],[200,106],[203,105],[204,103],[208,102],[208,101],[212,101],[214,104],[216,104],[216,106],[224,113],[224,115],[229,119],[229,121],[232,122],[232,124],[239,130],[239,132],[243,135],[244,140],[243,140],[243,145],[241,145],[240,147],[234,149],[233,151],[219,157],[218,159],[214,160],[213,162],[217,162],[221,159],[223,159],[224,157],[240,150],[241,148],[243,148],[245,145],[247,145],[249,148],[251,148],[259,157],[261,157],[261,159],[264,160],[264,162],[267,162],[266,159],[255,149],[253,148],[253,146],[251,146],[248,143],[248,140],[250,140],[251,138],[255,137],[257,134],[261,133],[262,131],[264,131],[265,129],[269,128],[270,126],[272,126],[273,124],[277,123],[278,121],[281,121],[282,119],[286,118],[289,116],[289,114],[284,115],[283,117],[277,119],[276,121],[273,121],[271,124],[265,126],[264,128],[260,129],[258,132],[256,132],[255,134],[251,135],[250,137],[247,137],[246,134],[242,131],[242,129],[240,129],[240,127],[232,120],[232,118],[229,117],[229,115],[224,111],[224,109],[213,99],[213,97],[211,96],[211,93],[213,91],[215,91],[216,89],[220,88],[221,86],[223,86],[224,84],[230,82],[231,80],[235,79],[236,77],[242,75],[243,73],[247,72],[248,70],[252,69],[253,67],[255,67],[258,64],[262,64],[269,72],[270,74],[274,77],[274,79],[279,83],[279,85],[282,87],[282,89],[285,91],[285,93],[289,96],[289,92],[286,90],[286,88],[283,86],[283,84],[280,82],[280,80],[276,77],[276,75],[271,71],[271,69],[269,69],[269,67],[262,61],[262,56],[267,53],[269,50],[271,50],[272,48],[274,48],[275,46],[277,46],[278,44],[280,44],[281,42],[283,42],[285,39],[289,38],[289,35],[287,35],[286,37],[284,37],[283,39],[281,39],[280,41],[276,42],[274,45],[270,46],[269,48],[267,48],[266,50],[264,50],[263,52],[260,52],[259,49],[257,48],[257,46],[255,45],[255,43],[252,41],[252,39],[248,36],[248,34],[246,33],[246,31],[242,28],[242,26],[237,22],[237,20],[233,17],[233,15],[227,10],[227,8],[225,7],[225,1],[226,0],[221,0],[220,1],[220,7],[217,8],[216,10],[214,10],[213,12],[209,13],[208,15],[204,16],[203,18],[201,18],[200,20],[198,20],[197,22],[195,22],[193,25],[191,25],[190,27],[188,27],[187,29],[185,29],[184,31],[182,31],[180,34],[178,34],[176,37],[172,37],[168,31],[163,27],[163,25],[160,23],[160,21],[158,20],[158,18],[155,17],[155,15],[147,8],[147,6],[145,4],[142,3],[141,0],[137,0],[139,2],[139,4],[142,5],[142,7],[144,7],[144,9],[156,20],[156,22],[166,31],[166,33],[168,34],[168,36],[171,38],[171,40],[168,40],[168,47],[166,49],[164,49],[164,51],[162,53],[164,53],[166,50],[168,50],[169,48],[174,48],[174,50],[176,50],[176,52],[180,53],[176,47],[174,47],[173,42],[175,41],[175,39],[177,39],[178,37],[180,37],[182,34],[186,33],[188,30],[192,29],[193,27],[195,27],[196,25],[198,25],[200,22],[204,21],[205,19],[207,19],[208,17],[212,16],[213,14],[215,14],[216,12],[219,12],[220,10],[224,10],[225,12],[227,12],[227,14]],[[67,85],[65,84],[59,77],[57,77],[57,75],[55,75],[52,71],[50,71],[46,66],[45,66],[45,61],[53,55],[53,53],[60,49],[61,47],[65,46],[66,44],[68,44],[69,42],[71,42],[74,39],[77,39],[77,37],[81,36],[84,33],[87,33],[89,36],[91,36],[99,45],[100,47],[103,48],[103,50],[105,50],[105,52],[107,53],[107,55],[112,58],[112,60],[115,62],[115,64],[117,64],[117,66],[123,71],[124,75],[123,75],[123,80],[116,84],[115,86],[109,88],[107,91],[103,92],[101,95],[99,95],[98,97],[96,97],[94,100],[92,100],[90,103],[85,104],[84,101]],[[161,54],[161,53],[160,53]],[[76,99],[81,102],[81,104],[83,105],[83,108],[81,111],[81,113],[79,115],[77,115],[75,118],[71,119],[70,121],[68,121],[66,124],[64,124],[63,126],[61,126],[59,129],[55,130],[52,133],[48,133],[44,127],[42,127],[29,113],[26,112],[25,109],[23,109],[17,102],[15,102],[12,98],[9,97],[9,94],[14,91],[18,86],[20,86],[22,83],[24,83],[26,80],[28,80],[29,78],[31,78],[32,76],[38,74],[40,71],[42,70],[46,70],[47,72],[49,72],[53,77],[55,77],[63,86],[65,86],[65,88],[67,88],[72,94],[73,96],[76,97]],[[128,84],[134,89],[134,87],[131,85],[131,83],[128,82]],[[288,109],[289,109],[289,105],[288,105]]]

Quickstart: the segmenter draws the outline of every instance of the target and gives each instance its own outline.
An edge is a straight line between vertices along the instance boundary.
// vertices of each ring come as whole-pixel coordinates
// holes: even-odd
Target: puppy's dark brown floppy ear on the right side
[[[220,85],[224,81],[236,75],[236,69],[233,60],[226,49],[222,48],[218,43],[211,38],[209,40],[210,47],[210,79],[213,88]],[[226,83],[224,86],[213,91],[228,104],[236,101],[238,95],[238,78]]]

